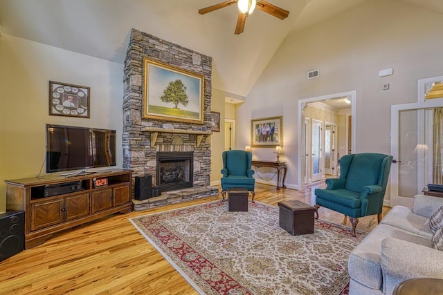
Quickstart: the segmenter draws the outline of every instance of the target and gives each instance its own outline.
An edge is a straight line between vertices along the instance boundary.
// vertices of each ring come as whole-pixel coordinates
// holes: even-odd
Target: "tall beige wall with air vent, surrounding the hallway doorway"
[[[298,188],[298,100],[356,91],[354,151],[390,153],[390,106],[417,101],[417,80],[443,75],[442,14],[400,1],[362,3],[287,36],[237,109],[237,128],[251,118],[283,115],[287,186]],[[394,75],[378,77],[394,68]],[[307,71],[320,77],[307,80]],[[390,83],[388,91],[382,85]],[[239,137],[240,146],[248,143]],[[255,149],[263,159],[271,149]]]

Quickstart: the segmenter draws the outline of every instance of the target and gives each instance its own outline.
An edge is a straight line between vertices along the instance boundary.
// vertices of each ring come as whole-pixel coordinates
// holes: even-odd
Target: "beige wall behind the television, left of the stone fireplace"
[[[45,124],[115,129],[121,167],[123,64],[3,34],[0,65],[0,211],[4,180],[45,174]],[[48,115],[50,80],[89,86],[91,118]]]

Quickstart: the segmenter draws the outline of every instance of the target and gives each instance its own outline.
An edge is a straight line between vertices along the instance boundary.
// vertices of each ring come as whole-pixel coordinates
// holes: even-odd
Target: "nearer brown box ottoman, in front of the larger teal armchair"
[[[315,207],[301,201],[278,202],[279,224],[292,236],[314,234]]]

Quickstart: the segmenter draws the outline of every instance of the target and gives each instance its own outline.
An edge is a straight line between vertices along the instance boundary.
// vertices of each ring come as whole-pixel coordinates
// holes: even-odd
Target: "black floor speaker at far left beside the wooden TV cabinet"
[[[8,211],[0,214],[0,261],[23,251],[24,220],[23,211]]]

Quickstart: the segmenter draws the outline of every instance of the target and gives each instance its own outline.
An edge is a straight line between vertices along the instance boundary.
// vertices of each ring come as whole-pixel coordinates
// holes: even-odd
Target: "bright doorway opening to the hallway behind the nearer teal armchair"
[[[298,183],[339,175],[341,155],[355,150],[355,91],[298,101]]]

